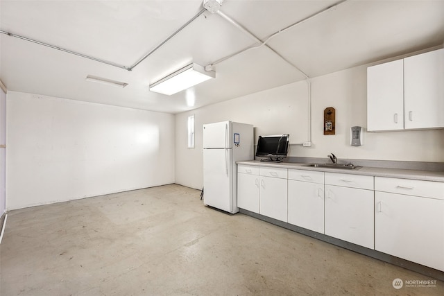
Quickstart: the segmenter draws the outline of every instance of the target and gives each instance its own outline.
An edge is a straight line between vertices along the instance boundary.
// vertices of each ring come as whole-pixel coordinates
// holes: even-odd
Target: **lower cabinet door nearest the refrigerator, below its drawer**
[[[259,176],[237,174],[237,207],[259,214]]]

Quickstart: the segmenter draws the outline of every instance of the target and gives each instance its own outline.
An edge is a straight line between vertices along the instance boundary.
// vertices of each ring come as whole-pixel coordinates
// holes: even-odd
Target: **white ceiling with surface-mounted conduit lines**
[[[0,30],[131,67],[202,9],[201,0],[0,0]],[[321,13],[275,35],[269,48],[234,55],[259,44],[205,11],[132,71],[3,33],[0,79],[11,91],[178,113],[305,79],[298,69],[316,77],[444,42],[444,0],[225,0],[221,12],[262,41]],[[191,62],[206,66],[230,55],[214,65],[216,79],[173,96],[148,89]]]

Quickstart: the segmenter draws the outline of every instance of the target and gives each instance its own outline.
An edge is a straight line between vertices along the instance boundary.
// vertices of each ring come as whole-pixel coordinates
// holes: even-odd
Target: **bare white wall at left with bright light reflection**
[[[8,92],[7,209],[173,183],[174,121]]]

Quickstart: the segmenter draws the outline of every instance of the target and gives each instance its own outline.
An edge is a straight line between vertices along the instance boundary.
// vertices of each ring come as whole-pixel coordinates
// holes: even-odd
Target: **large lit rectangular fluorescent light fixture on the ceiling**
[[[216,73],[214,71],[205,71],[204,67],[192,63],[153,83],[150,85],[150,90],[151,92],[171,96],[215,77]]]

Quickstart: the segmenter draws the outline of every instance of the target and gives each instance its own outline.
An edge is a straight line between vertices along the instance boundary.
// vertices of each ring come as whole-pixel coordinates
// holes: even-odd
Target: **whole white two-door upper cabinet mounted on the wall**
[[[367,69],[367,130],[444,127],[444,49]]]

